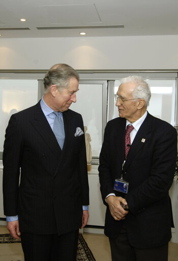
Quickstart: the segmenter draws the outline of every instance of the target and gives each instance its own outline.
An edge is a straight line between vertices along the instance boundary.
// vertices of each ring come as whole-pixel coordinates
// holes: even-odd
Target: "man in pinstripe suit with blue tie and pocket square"
[[[78,229],[88,220],[83,121],[69,110],[78,84],[72,67],[54,65],[42,99],[12,115],[6,130],[4,213],[25,261],[76,260]]]

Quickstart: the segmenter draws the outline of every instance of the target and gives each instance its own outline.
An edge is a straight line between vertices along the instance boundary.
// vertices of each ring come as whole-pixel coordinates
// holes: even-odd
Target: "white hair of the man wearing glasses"
[[[144,99],[145,100],[144,107],[149,106],[149,101],[151,98],[151,91],[149,85],[142,79],[141,76],[138,75],[131,75],[121,80],[121,83],[130,83],[130,82],[136,84],[135,90],[132,93],[133,98]]]

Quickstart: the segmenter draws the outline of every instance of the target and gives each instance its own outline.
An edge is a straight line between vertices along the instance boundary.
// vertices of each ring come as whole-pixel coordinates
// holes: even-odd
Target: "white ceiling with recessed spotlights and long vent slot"
[[[83,37],[80,32],[84,37],[178,35],[178,1],[0,0],[1,38]]]

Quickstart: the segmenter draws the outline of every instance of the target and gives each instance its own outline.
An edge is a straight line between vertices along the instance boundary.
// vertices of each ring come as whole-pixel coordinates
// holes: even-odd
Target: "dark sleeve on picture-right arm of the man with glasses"
[[[155,143],[149,177],[126,195],[128,206],[133,214],[168,195],[174,177],[176,155],[177,133],[170,126],[164,133],[160,133]]]

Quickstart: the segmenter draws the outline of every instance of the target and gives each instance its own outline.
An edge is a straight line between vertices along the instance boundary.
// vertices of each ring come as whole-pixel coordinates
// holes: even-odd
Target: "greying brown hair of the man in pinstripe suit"
[[[73,77],[79,82],[78,72],[71,66],[62,63],[53,65],[44,77],[45,93],[49,92],[53,84],[61,92],[68,87],[69,80]]]

